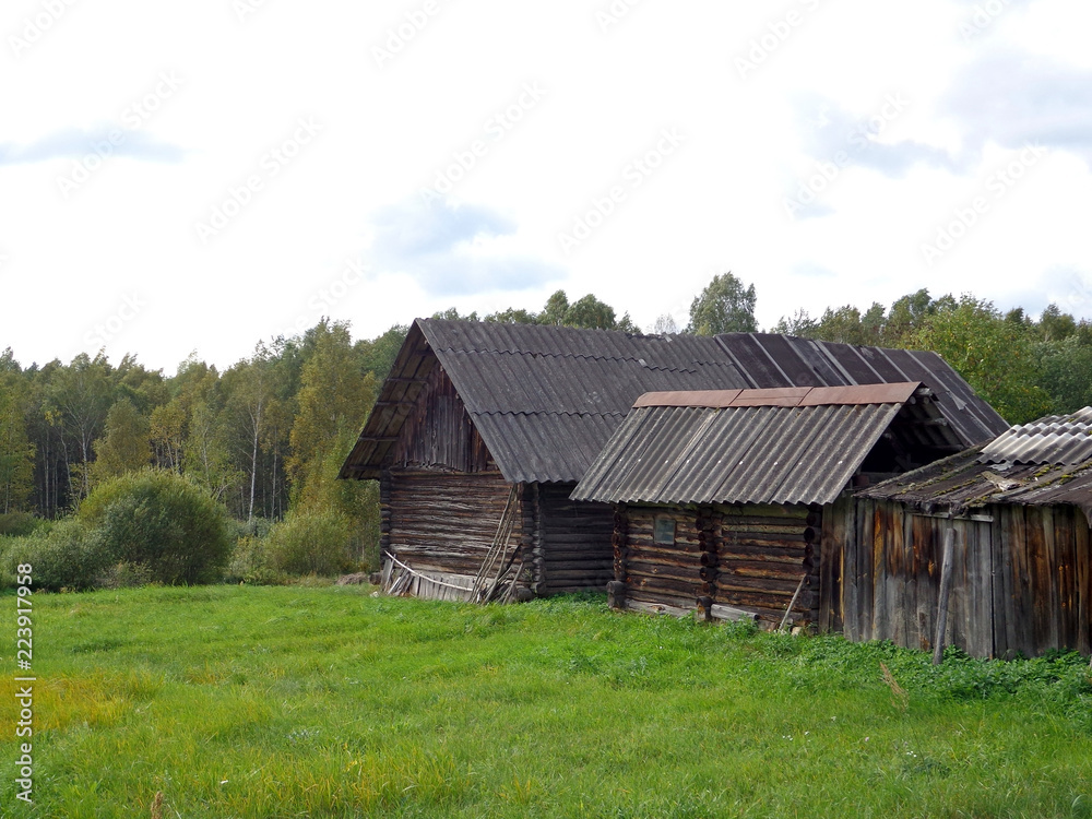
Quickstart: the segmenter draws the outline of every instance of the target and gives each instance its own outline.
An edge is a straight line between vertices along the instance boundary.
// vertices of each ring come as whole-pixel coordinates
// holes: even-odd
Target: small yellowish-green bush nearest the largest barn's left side
[[[352,544],[353,525],[345,515],[300,512],[274,526],[264,545],[274,572],[329,577],[356,568]]]

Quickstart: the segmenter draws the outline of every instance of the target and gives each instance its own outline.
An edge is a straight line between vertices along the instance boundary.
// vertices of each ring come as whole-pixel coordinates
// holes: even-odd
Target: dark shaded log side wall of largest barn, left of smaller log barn
[[[538,593],[604,591],[614,579],[614,508],[569,500],[574,484],[533,486],[537,498]]]

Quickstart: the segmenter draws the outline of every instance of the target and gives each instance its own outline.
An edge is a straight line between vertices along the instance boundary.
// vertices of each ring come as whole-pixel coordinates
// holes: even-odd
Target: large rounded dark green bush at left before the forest
[[[166,585],[217,581],[230,555],[227,509],[174,472],[107,480],[80,506],[80,519],[115,562],[144,567]]]

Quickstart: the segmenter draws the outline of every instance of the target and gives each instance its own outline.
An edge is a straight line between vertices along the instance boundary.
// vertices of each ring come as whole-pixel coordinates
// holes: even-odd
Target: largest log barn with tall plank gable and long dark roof
[[[613,507],[570,495],[641,394],[888,381],[929,383],[961,441],[999,423],[928,353],[422,319],[341,477],[380,482],[397,590],[467,597],[488,559],[533,594],[603,589]]]

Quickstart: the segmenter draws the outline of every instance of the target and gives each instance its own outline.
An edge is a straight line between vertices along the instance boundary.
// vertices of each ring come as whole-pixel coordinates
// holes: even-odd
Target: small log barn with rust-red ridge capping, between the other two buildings
[[[839,629],[852,487],[988,435],[921,381],[652,393],[572,497],[615,505],[619,607]]]

